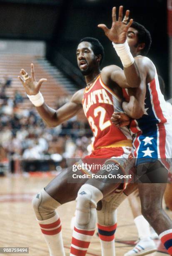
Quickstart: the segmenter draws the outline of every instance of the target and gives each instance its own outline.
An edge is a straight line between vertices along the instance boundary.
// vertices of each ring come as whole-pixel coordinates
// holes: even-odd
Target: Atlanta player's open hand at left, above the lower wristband
[[[25,88],[27,95],[36,95],[39,92],[42,83],[47,81],[47,79],[42,78],[38,82],[36,82],[33,64],[31,64],[31,76],[27,74],[25,69],[21,69],[18,79]]]

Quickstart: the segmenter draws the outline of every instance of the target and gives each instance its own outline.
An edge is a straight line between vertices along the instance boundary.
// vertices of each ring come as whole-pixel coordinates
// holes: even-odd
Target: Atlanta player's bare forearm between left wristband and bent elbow
[[[49,127],[55,127],[60,124],[60,120],[57,118],[56,110],[48,107],[45,103],[43,103],[43,105],[40,107],[36,107],[36,109],[46,125]]]

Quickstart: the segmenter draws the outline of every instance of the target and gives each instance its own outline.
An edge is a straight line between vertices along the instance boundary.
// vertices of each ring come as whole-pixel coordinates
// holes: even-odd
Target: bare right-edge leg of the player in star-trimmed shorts
[[[160,161],[149,164],[148,179],[162,177],[165,180],[167,170]],[[158,179],[159,179],[158,177]],[[143,179],[145,181],[145,178]],[[155,179],[154,179],[155,180]],[[168,253],[172,254],[172,220],[162,209],[162,198],[166,183],[139,183],[139,194],[142,207],[142,215],[155,229],[165,245]]]

